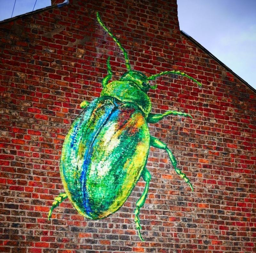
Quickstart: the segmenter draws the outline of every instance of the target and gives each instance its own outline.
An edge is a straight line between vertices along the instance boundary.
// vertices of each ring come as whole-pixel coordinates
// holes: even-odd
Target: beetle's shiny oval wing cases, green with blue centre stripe
[[[92,219],[118,210],[140,178],[148,150],[148,126],[139,109],[95,99],[72,124],[61,155],[61,178],[76,210]]]

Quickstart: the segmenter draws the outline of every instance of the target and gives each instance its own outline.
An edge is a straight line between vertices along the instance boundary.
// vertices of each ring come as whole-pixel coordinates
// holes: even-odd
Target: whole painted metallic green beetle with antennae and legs
[[[103,24],[101,27],[117,43],[124,53],[128,71],[119,81],[112,81],[110,58],[107,60],[108,75],[103,78],[100,97],[91,103],[81,103],[83,111],[72,123],[63,143],[60,158],[60,175],[65,189],[54,199],[48,219],[55,207],[68,198],[77,212],[88,219],[103,219],[121,208],[140,177],[146,182],[145,189],[136,202],[135,224],[141,237],[140,208],[148,194],[150,173],[146,168],[149,147],[164,149],[174,170],[191,187],[186,175],[177,168],[172,151],[161,140],[150,136],[148,123],[157,123],[167,115],[190,117],[187,113],[167,111],[152,114],[149,89],[156,89],[149,81],[158,76],[182,75],[202,84],[180,71],[164,71],[147,77],[131,69],[127,52],[117,38]]]

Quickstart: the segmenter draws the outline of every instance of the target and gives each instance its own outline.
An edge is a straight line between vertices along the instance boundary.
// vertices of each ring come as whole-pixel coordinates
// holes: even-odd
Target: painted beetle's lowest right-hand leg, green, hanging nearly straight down
[[[147,195],[148,195],[148,187],[149,187],[149,182],[151,180],[151,176],[150,176],[148,169],[146,169],[146,168],[143,169],[141,176],[146,181],[146,186],[145,186],[145,189],[144,189],[140,199],[136,202],[136,209],[134,212],[135,213],[134,221],[136,224],[136,229],[138,229],[138,234],[139,234],[140,240],[144,241],[140,234],[141,226],[140,226],[139,215],[140,215],[140,208],[144,205]]]

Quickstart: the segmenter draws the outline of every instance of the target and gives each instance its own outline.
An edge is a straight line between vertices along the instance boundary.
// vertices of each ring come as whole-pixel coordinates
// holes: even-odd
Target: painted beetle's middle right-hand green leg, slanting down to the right
[[[187,176],[183,172],[181,172],[180,169],[177,168],[176,158],[172,154],[172,151],[167,147],[167,145],[165,143],[163,143],[162,141],[158,140],[157,138],[150,136],[150,146],[166,150],[166,152],[168,153],[168,155],[170,157],[170,160],[172,162],[172,166],[174,167],[174,170],[177,172],[178,175],[180,175],[181,178],[184,178],[184,181],[191,187],[191,189],[193,191],[194,190],[193,186],[190,183]]]

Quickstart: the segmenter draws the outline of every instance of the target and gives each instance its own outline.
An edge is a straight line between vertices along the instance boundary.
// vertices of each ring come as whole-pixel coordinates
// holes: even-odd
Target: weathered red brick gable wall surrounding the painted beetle
[[[256,252],[256,94],[180,34],[172,1],[70,1],[0,24],[1,252]],[[176,175],[166,152],[150,149],[152,180],[134,225],[138,182],[124,206],[100,221],[85,219],[61,191],[59,160],[79,104],[100,96],[111,57],[118,80],[124,56],[146,75],[182,70],[203,83],[158,78],[152,112],[187,112],[150,125],[168,144],[195,191]]]

